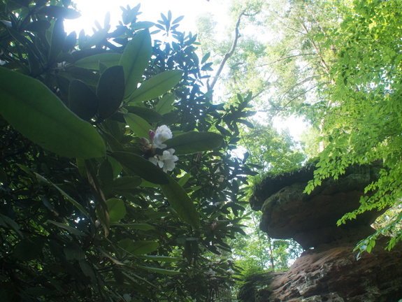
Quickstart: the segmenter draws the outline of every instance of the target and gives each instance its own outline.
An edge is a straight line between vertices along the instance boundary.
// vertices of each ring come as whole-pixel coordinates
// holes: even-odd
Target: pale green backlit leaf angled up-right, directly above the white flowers
[[[130,102],[142,102],[155,99],[168,92],[180,82],[182,71],[164,71],[146,80],[130,96]]]

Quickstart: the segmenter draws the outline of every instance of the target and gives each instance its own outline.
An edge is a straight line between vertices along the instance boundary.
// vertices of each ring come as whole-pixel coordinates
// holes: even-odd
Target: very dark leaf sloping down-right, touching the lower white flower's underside
[[[168,175],[148,159],[129,152],[113,152],[110,155],[119,161],[120,164],[149,182],[158,185],[169,182]]]

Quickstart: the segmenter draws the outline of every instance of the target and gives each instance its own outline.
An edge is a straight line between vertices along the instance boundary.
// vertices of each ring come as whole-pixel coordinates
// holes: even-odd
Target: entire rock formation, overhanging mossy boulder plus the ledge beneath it
[[[378,240],[371,254],[357,260],[359,240],[373,233],[381,213],[371,211],[336,227],[345,213],[359,207],[364,187],[378,179],[380,166],[352,166],[338,180],[322,182],[304,194],[313,166],[267,178],[250,202],[261,210],[260,227],[271,238],[294,238],[306,249],[289,271],[252,276],[239,292],[242,302],[364,301],[402,299],[402,244],[385,250]],[[254,278],[254,279],[253,279]]]

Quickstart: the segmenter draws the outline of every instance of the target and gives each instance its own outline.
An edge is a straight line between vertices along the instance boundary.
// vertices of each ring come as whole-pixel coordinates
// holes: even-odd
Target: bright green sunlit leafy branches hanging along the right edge
[[[380,179],[366,187],[371,198],[362,198],[359,209],[338,224],[366,210],[394,207],[401,201],[401,1],[354,1],[354,14],[334,29],[331,43],[337,50],[330,90],[331,106],[322,108],[325,149],[308,191],[327,177],[338,178],[350,164],[381,161]],[[392,233],[389,249],[401,239],[401,215],[359,243],[371,251],[375,238]],[[369,243],[369,244],[368,244]]]

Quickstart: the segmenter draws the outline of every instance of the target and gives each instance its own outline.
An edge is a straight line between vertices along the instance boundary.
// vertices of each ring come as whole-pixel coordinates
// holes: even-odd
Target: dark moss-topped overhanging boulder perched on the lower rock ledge
[[[313,166],[266,178],[254,190],[250,202],[261,210],[260,228],[271,238],[294,238],[304,249],[318,245],[357,243],[374,232],[377,210],[357,215],[337,227],[336,222],[359,208],[364,188],[378,179],[380,166],[350,166],[338,180],[324,180],[310,194],[303,193],[313,179]]]

